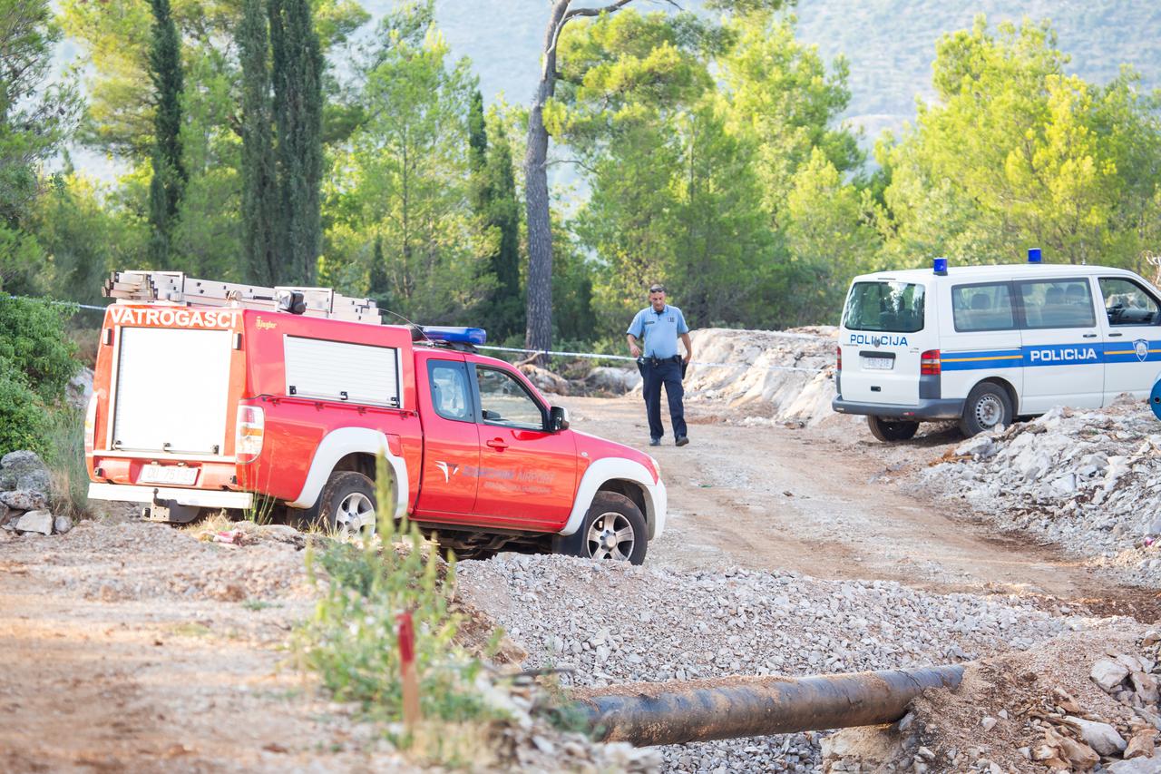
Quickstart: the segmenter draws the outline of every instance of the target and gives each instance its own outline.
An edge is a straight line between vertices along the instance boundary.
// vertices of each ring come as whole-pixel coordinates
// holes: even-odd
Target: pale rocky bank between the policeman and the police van
[[[690,366],[685,377],[690,404],[729,407],[748,425],[795,422],[810,427],[828,418],[842,421],[830,409],[836,328],[707,328],[691,337],[694,361],[715,365]]]

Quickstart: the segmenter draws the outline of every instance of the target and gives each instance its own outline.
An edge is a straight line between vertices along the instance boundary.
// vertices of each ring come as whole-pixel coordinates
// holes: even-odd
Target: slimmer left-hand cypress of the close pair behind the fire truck
[[[246,278],[274,285],[280,272],[275,253],[279,215],[274,164],[269,51],[262,0],[243,0],[236,33],[241,62],[241,229]]]

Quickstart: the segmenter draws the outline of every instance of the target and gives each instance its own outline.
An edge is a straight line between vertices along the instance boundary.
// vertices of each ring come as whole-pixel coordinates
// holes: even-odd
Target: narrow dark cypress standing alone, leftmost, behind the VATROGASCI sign
[[[171,259],[173,229],[187,174],[181,159],[181,41],[170,13],[170,0],[150,0],[153,37],[150,43],[150,81],[157,110],[153,115],[153,178],[150,180],[150,253],[156,266]]]

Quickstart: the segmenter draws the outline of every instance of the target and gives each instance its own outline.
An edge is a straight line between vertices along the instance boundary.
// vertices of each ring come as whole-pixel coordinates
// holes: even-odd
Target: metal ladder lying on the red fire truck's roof
[[[301,298],[296,299],[296,294]],[[165,301],[267,311],[293,311],[295,302],[301,301],[302,311],[296,314],[383,324],[375,301],[341,295],[329,287],[262,287],[217,282],[186,277],[185,272],[113,272],[104,281],[101,295],[140,303]]]

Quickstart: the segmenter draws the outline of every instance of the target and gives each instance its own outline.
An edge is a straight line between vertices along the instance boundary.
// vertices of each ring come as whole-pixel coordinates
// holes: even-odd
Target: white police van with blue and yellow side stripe
[[[856,277],[838,341],[843,414],[880,440],[923,420],[975,435],[1053,406],[1146,399],[1161,375],[1161,294],[1133,272],[1029,263]]]

